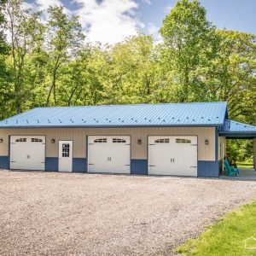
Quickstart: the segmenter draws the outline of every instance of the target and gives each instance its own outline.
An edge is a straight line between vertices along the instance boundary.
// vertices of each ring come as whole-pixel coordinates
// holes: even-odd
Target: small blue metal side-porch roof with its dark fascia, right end
[[[256,126],[247,125],[230,119],[224,119],[224,125],[219,129],[219,134],[226,136],[250,135],[256,137]]]

